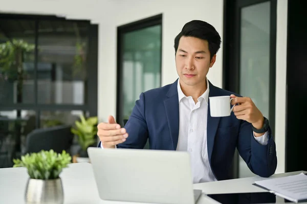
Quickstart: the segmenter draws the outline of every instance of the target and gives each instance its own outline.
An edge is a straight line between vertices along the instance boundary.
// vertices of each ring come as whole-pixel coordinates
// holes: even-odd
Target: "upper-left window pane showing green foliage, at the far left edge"
[[[0,104],[34,103],[35,21],[0,18]]]

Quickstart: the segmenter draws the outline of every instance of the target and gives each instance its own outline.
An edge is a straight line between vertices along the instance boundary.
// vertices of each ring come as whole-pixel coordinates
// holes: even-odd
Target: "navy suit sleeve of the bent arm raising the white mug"
[[[259,144],[253,136],[251,124],[241,122],[237,141],[238,152],[249,169],[261,177],[273,175],[277,166],[276,146],[270,128],[268,138],[267,145]]]

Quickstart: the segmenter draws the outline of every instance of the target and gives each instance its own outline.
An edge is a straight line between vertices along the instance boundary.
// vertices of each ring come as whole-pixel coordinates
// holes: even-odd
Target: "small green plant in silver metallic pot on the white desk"
[[[59,177],[62,169],[71,163],[71,156],[62,151],[42,150],[21,156],[21,160],[13,160],[13,167],[26,167],[28,179],[26,203],[63,203],[64,194],[62,181]]]

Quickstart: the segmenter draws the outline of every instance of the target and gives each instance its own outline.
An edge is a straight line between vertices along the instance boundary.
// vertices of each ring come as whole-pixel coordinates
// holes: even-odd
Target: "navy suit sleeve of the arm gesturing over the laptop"
[[[143,149],[148,139],[144,93],[141,93],[140,99],[136,101],[125,129],[128,138],[124,143],[118,144],[117,148]]]

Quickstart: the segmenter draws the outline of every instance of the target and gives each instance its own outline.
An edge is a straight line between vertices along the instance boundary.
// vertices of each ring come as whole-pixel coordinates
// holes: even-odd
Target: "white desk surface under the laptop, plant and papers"
[[[276,174],[277,176],[288,176],[301,173],[292,172]],[[71,164],[60,174],[64,188],[64,203],[106,203],[106,204],[128,204],[131,202],[100,200],[96,187],[92,165],[89,163]],[[201,189],[207,194],[236,193],[236,192],[265,192],[253,186],[255,180],[265,179],[262,177],[249,177],[220,182],[195,184],[194,189]],[[28,180],[25,168],[0,169],[0,203],[24,203],[26,183]],[[206,195],[202,195],[198,204],[217,203]],[[138,203],[142,204],[142,203]],[[148,204],[148,203],[147,203]]]

